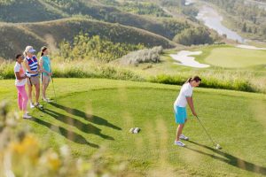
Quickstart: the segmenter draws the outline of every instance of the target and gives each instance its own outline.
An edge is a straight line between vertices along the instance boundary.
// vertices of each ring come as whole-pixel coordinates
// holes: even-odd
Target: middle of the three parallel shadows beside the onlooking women
[[[66,116],[64,114],[61,114],[59,112],[54,112],[52,110],[49,109],[45,109],[42,111],[45,114],[50,115],[51,117],[53,117],[54,119],[58,119],[64,123],[66,123],[67,125],[71,125],[74,127],[77,127],[79,130],[81,130],[82,132],[85,132],[87,134],[94,134],[94,135],[99,135],[100,137],[107,139],[107,140],[114,140],[112,136],[108,136],[108,135],[103,135],[101,133],[101,129],[99,129],[98,127],[95,127],[93,125],[91,125],[90,123],[85,124],[82,121],[78,120],[78,119],[74,119],[72,117]]]

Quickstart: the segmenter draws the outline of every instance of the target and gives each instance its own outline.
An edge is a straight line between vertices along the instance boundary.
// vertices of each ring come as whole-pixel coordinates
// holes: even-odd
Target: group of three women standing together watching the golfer
[[[16,64],[14,66],[14,73],[16,76],[15,85],[18,89],[19,108],[22,112],[22,118],[24,119],[31,118],[27,112],[28,100],[30,108],[43,107],[43,105],[39,103],[40,87],[42,87],[43,90],[43,101],[50,102],[50,99],[46,97],[46,89],[49,86],[52,75],[51,60],[48,57],[48,53],[48,48],[43,46],[41,49],[41,58],[37,59],[34,48],[32,46],[27,46],[23,54],[16,55]],[[27,91],[25,89],[26,84]],[[35,102],[32,97],[33,87],[35,87]]]

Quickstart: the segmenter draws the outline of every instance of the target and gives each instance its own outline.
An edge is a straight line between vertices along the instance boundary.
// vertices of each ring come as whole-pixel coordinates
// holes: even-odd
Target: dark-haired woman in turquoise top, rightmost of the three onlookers
[[[46,97],[46,89],[51,81],[51,60],[48,57],[48,48],[43,46],[41,49],[40,67],[43,71],[42,77],[42,90],[43,90],[43,101],[51,102],[49,98]]]

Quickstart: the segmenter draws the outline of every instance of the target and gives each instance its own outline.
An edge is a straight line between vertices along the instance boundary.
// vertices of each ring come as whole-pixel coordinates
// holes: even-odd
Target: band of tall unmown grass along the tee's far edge
[[[156,83],[182,85],[192,75],[200,75],[203,79],[200,87],[212,89],[231,89],[247,92],[266,93],[266,77],[246,71],[210,70],[190,71],[179,74],[155,73],[145,76],[134,69],[114,64],[99,64],[84,60],[59,62],[52,60],[53,76],[59,78],[106,78],[114,80],[150,81]],[[14,79],[11,62],[0,63],[0,79]],[[150,66],[149,66],[150,67]]]

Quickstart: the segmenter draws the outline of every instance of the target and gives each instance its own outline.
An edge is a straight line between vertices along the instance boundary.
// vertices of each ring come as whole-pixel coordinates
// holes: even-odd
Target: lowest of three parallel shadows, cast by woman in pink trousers
[[[65,136],[66,139],[70,140],[71,142],[86,144],[92,148],[99,148],[98,144],[88,142],[82,135],[78,135],[78,134],[76,134],[70,130],[66,130],[64,127],[56,127],[54,125],[51,125],[51,123],[43,121],[42,119],[37,119],[35,117],[33,117],[30,120],[35,121],[36,123],[38,123],[42,126],[50,128],[52,131],[58,133],[59,135]]]

